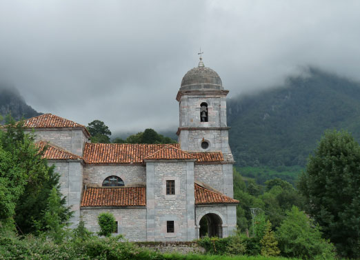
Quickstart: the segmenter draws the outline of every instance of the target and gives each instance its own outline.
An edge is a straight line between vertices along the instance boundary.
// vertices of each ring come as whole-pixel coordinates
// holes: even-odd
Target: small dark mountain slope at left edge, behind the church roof
[[[42,114],[28,106],[16,88],[0,86],[0,115],[6,117],[9,112],[15,120],[20,120],[22,117],[28,119]]]

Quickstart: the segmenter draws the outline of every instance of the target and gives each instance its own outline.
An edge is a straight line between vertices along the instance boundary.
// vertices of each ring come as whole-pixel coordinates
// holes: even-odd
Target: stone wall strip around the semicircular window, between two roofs
[[[111,175],[120,177],[125,183],[125,186],[128,186],[131,183],[145,183],[146,167],[137,165],[121,166],[87,164],[83,173],[83,181],[84,183],[92,183],[101,187],[103,180]]]

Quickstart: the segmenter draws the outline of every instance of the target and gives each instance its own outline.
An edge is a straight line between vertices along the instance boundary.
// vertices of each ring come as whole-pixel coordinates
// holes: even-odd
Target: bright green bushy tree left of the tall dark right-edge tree
[[[334,258],[334,247],[321,237],[319,226],[296,206],[287,212],[276,236],[284,257],[314,259],[321,255],[323,259]]]

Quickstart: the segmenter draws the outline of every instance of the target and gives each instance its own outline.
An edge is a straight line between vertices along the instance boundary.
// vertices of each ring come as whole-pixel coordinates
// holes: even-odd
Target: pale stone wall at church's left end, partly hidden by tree
[[[66,196],[67,206],[72,206],[74,211],[70,219],[70,228],[74,228],[79,223],[81,191],[83,188],[83,165],[80,161],[52,161],[55,172],[60,174],[60,190],[63,196]]]

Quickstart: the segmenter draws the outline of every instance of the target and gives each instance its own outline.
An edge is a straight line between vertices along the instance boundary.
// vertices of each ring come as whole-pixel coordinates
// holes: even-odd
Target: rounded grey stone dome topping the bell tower
[[[199,66],[189,70],[183,77],[181,90],[223,90],[223,83],[217,72],[203,65],[200,57]]]

